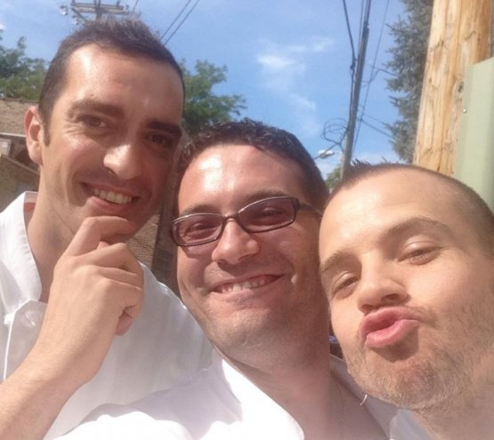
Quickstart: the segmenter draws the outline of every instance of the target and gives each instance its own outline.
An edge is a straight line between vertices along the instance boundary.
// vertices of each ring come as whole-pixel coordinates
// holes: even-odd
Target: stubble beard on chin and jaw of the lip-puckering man
[[[484,293],[484,301],[465,304],[456,316],[449,316],[454,322],[447,329],[433,324],[442,338],[434,342],[425,334],[412,344],[414,350],[407,342],[380,353],[359,346],[347,356],[349,372],[370,396],[413,412],[461,408],[475,397],[479,370],[492,363],[494,305],[492,292]]]

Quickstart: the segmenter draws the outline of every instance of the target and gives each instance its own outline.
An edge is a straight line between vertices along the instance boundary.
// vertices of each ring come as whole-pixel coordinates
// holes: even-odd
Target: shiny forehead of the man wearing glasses
[[[269,195],[303,198],[302,172],[293,161],[251,145],[218,145],[199,154],[183,174],[179,209],[207,197],[248,203]],[[239,206],[236,206],[239,207]]]

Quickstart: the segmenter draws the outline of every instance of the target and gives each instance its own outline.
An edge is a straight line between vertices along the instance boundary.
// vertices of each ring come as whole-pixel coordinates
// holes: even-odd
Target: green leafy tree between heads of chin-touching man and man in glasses
[[[196,61],[191,73],[182,62],[185,83],[185,107],[183,124],[194,135],[209,125],[231,121],[245,106],[240,95],[218,95],[213,91],[216,84],[226,81],[227,68],[218,68],[206,60]]]

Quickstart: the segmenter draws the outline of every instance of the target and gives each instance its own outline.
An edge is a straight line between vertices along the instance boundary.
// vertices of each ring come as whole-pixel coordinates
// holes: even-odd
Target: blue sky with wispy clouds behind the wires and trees
[[[91,0],[85,0],[90,2]],[[196,4],[190,2],[186,12]],[[58,43],[75,27],[59,8],[70,0],[2,0],[0,27],[13,47],[26,36],[28,55],[51,60]],[[114,4],[104,0],[104,4]],[[135,0],[122,0],[131,9]],[[361,0],[347,0],[357,50]],[[151,28],[165,33],[187,0],[139,0],[136,10]],[[403,15],[400,0],[374,0],[360,105],[365,110],[354,157],[370,162],[396,160],[383,123],[398,116],[385,87],[387,49],[393,40],[386,25]],[[165,35],[172,34],[175,27]],[[325,124],[336,129],[348,118],[352,52],[344,20],[343,0],[200,0],[171,36],[168,46],[178,60],[193,68],[208,60],[228,68],[219,93],[241,94],[247,101],[242,116],[293,132],[312,156],[328,148]],[[371,126],[372,127],[371,127]],[[318,159],[326,174],[341,161],[338,153]]]

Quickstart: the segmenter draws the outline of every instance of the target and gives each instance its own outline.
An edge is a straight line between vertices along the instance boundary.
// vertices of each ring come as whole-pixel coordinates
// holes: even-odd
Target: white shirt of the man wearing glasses
[[[333,374],[359,399],[364,395],[344,363]],[[369,407],[372,406],[372,408]],[[368,411],[388,433],[355,440],[423,440],[409,414],[375,399]],[[378,418],[377,418],[378,417]],[[303,440],[296,420],[217,353],[213,364],[190,381],[127,406],[104,405],[63,440]],[[352,422],[352,416],[348,416]]]

